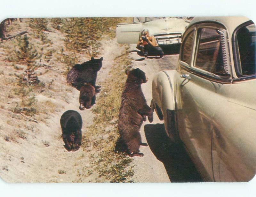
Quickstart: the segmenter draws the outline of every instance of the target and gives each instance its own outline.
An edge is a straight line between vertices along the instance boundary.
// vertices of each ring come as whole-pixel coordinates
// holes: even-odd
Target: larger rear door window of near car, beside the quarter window
[[[198,44],[194,66],[216,75],[226,76],[218,29],[200,28],[197,35]]]

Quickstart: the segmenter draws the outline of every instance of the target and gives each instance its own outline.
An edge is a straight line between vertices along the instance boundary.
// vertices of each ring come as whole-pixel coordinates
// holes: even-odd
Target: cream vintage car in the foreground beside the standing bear
[[[184,143],[206,181],[244,182],[256,173],[255,24],[196,17],[176,70],[152,83],[151,107],[173,142]],[[177,150],[178,151],[178,150]]]

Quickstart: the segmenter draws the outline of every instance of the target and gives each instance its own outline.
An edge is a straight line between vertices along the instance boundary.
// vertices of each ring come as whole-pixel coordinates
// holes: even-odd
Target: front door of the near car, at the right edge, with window
[[[220,88],[212,118],[213,173],[219,182],[249,181],[256,172],[255,24],[239,26],[232,39],[238,78]]]

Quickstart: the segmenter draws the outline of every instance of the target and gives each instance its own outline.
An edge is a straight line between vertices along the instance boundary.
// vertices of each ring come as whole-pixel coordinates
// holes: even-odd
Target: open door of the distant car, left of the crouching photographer
[[[124,44],[137,44],[142,30],[142,23],[137,17],[134,17],[133,23],[117,24],[116,37],[117,42]]]

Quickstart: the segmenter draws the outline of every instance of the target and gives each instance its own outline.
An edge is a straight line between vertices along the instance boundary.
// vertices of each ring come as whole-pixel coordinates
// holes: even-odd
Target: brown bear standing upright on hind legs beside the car
[[[153,121],[153,111],[147,105],[147,101],[141,90],[141,84],[146,83],[145,72],[139,68],[125,71],[127,80],[122,92],[121,107],[119,110],[118,131],[122,140],[127,145],[129,156],[143,156],[140,153],[140,145],[147,146],[141,142],[140,126],[146,121]]]

